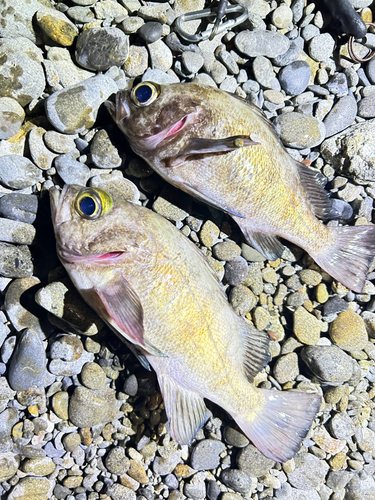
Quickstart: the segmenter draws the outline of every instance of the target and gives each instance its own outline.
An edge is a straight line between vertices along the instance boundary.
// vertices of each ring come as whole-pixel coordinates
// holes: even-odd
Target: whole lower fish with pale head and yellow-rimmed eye
[[[57,253],[83,299],[157,375],[169,433],[190,444],[224,408],[267,457],[299,449],[320,409],[316,393],[257,388],[269,336],[230,306],[201,250],[121,192],[50,190]]]

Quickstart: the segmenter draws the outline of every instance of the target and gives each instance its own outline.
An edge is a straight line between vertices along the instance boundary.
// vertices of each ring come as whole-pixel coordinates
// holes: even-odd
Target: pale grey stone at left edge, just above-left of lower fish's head
[[[0,182],[12,189],[24,189],[43,179],[41,170],[28,158],[19,155],[0,156]]]

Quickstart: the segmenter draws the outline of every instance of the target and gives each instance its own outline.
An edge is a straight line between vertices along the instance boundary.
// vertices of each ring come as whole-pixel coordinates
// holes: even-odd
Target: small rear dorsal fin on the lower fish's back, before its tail
[[[257,330],[253,325],[246,325],[242,329],[244,338],[244,370],[250,382],[253,382],[257,373],[264,368],[270,360],[268,333]]]

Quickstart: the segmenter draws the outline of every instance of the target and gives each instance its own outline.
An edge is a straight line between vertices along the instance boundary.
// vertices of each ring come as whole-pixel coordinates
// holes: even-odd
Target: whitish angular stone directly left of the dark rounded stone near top
[[[91,71],[79,68],[72,61],[69,50],[62,47],[51,47],[48,49],[47,60],[44,64],[46,67],[47,65],[51,66],[53,80],[58,80],[57,83],[60,87],[56,86],[56,91],[59,91],[61,86],[69,87],[94,76],[94,73]]]

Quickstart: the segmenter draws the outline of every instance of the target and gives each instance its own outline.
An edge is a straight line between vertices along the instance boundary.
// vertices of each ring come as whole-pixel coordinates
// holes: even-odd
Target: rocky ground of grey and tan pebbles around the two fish
[[[350,2],[372,20],[372,0]],[[1,498],[375,498],[375,264],[359,294],[290,244],[266,261],[230,218],[135,157],[102,106],[140,80],[234,92],[321,171],[341,214],[328,224],[371,224],[375,59],[352,61],[347,37],[310,1],[238,3],[246,22],[189,43],[173,22],[204,0],[0,0]],[[362,42],[363,57],[375,35]],[[59,265],[48,190],[64,183],[115,183],[169,219],[207,255],[235,310],[269,332],[272,360],[256,384],[324,395],[293,459],[264,458],[214,405],[191,447],[170,439],[154,374]]]

